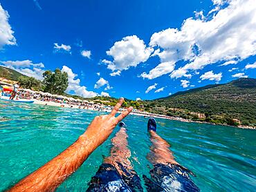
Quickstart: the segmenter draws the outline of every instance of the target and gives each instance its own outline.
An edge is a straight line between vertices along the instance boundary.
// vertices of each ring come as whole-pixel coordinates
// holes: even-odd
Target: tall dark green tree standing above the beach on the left
[[[54,73],[46,70],[44,76],[44,92],[62,95],[68,88],[68,73],[62,72],[60,68],[56,68]]]

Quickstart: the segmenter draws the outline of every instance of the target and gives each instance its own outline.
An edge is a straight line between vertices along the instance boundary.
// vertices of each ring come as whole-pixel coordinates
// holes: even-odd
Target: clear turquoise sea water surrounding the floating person
[[[0,191],[15,184],[71,145],[103,113],[0,101]],[[202,191],[256,191],[256,131],[156,119],[158,135],[171,144],[176,161],[190,169]],[[147,119],[125,119],[131,162],[149,175],[151,142]],[[118,131],[118,128],[114,133]],[[82,191],[109,155],[111,137],[57,191]]]

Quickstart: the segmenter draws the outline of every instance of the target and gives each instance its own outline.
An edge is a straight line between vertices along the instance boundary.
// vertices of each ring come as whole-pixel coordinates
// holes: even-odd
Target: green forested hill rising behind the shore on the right
[[[205,113],[213,119],[230,117],[244,125],[256,126],[256,79],[241,78],[228,84],[194,88],[152,102],[166,110],[181,108]]]

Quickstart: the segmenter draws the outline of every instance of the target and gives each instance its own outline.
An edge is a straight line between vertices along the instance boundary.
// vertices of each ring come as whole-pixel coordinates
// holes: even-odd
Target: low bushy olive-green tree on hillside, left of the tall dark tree
[[[21,76],[18,78],[19,86],[22,88],[30,88],[32,90],[41,90],[42,82],[34,77]]]

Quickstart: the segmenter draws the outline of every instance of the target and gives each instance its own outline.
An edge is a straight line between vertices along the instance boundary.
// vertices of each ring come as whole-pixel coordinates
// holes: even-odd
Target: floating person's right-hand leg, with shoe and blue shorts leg
[[[143,175],[148,191],[200,191],[190,179],[191,171],[174,160],[170,144],[156,134],[156,121],[150,118],[147,124],[152,146],[147,155],[154,169],[150,171],[151,179]]]

